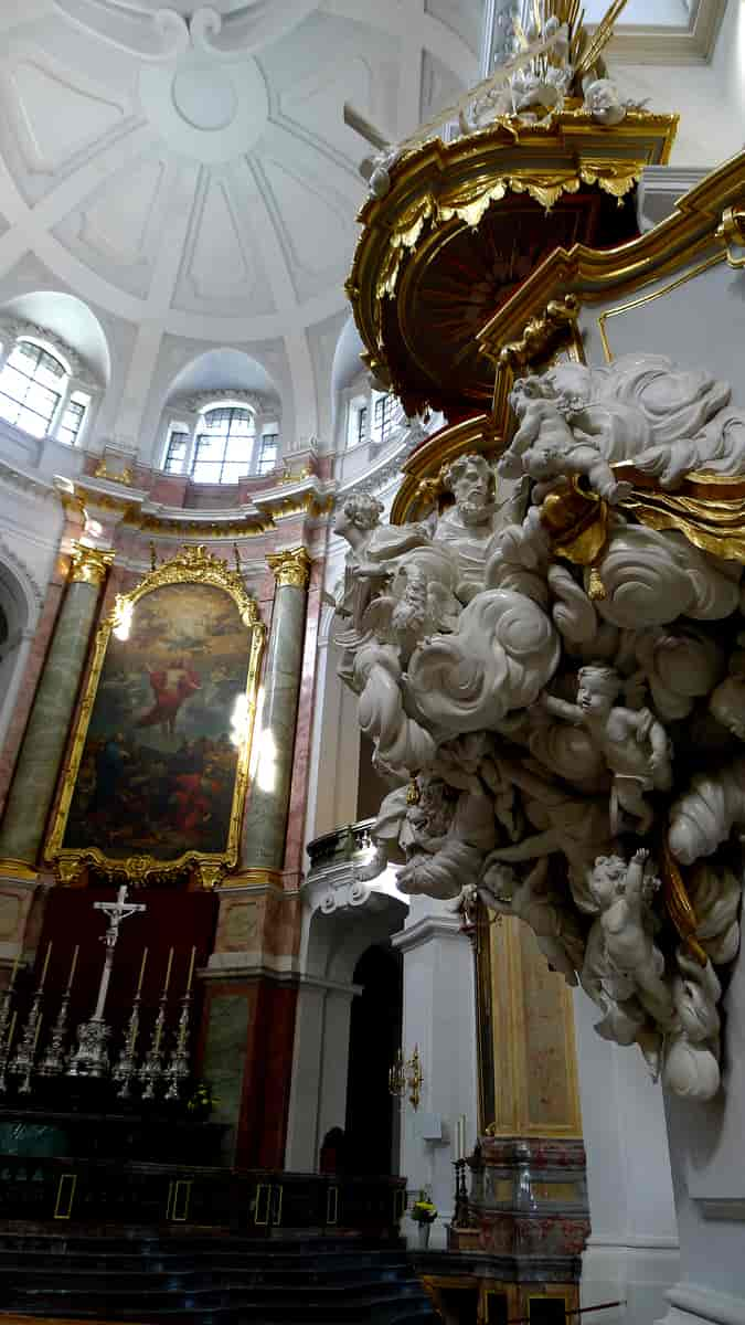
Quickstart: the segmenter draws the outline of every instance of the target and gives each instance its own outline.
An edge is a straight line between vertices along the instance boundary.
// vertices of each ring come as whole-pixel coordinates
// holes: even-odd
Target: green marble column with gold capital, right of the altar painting
[[[256,733],[253,778],[243,825],[241,873],[261,881],[285,857],[297,701],[302,676],[310,558],[305,547],[266,560],[274,572],[274,608],[264,673],[264,709]]]

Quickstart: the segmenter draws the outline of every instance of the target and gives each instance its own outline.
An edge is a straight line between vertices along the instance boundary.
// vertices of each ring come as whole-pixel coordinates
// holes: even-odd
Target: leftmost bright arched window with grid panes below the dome
[[[65,359],[42,341],[19,337],[0,371],[0,419],[32,437],[76,445],[90,395],[72,391]]]

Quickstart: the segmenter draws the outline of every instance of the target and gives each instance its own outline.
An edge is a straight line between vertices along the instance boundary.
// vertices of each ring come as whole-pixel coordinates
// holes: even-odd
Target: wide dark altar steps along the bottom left
[[[406,1251],[355,1239],[0,1235],[3,1316],[133,1325],[435,1325]]]

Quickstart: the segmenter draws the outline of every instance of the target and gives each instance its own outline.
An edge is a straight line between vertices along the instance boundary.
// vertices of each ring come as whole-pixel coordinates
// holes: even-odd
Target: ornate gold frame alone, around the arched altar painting
[[[233,787],[233,803],[228,828],[227,847],[221,852],[186,851],[175,860],[156,860],[150,855],[127,856],[123,860],[114,860],[106,856],[97,847],[90,848],[64,848],[65,828],[70,803],[76,788],[80,762],[87,735],[90,716],[98,692],[98,681],[111,631],[117,627],[141,598],[152,590],[163,588],[167,584],[212,584],[224,590],[236,603],[243,624],[251,631],[251,653],[248,661],[247,678],[247,730],[245,739],[239,750],[236,767],[236,780]],[[233,869],[237,861],[240,827],[243,808],[248,790],[251,746],[256,721],[256,706],[258,696],[258,677],[261,669],[261,656],[266,628],[258,619],[256,602],[247,592],[243,576],[239,571],[229,570],[227,562],[208,553],[204,545],[184,547],[176,556],[163,562],[146,575],[129,594],[118,594],[114,610],[101,623],[95,632],[93,657],[85,686],[82,704],[80,708],[73,743],[68,763],[62,771],[62,790],[57,803],[52,831],[49,833],[45,859],[54,865],[57,877],[64,884],[76,881],[86,864],[95,867],[109,878],[126,876],[130,882],[142,884],[146,878],[163,878],[180,874],[192,867],[203,888],[213,888],[228,869]]]

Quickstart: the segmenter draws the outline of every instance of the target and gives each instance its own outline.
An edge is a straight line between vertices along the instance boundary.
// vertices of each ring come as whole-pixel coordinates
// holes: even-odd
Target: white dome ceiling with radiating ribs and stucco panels
[[[414,127],[477,74],[481,9],[5,0],[0,281],[30,250],[151,342],[284,339],[297,388],[365,193],[343,102]]]

